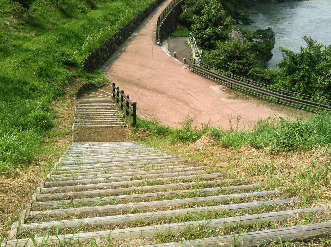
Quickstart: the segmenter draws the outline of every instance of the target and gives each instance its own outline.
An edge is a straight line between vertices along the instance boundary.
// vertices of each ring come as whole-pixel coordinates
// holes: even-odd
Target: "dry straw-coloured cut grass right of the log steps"
[[[261,182],[267,190],[278,187],[284,195],[306,197],[307,206],[324,204],[330,207],[331,173],[326,176],[326,167],[330,166],[327,147],[270,154],[267,149],[250,146],[236,150],[226,148],[204,135],[194,143],[174,144],[171,149],[206,163],[211,169],[229,171],[231,177],[245,177],[249,183]]]

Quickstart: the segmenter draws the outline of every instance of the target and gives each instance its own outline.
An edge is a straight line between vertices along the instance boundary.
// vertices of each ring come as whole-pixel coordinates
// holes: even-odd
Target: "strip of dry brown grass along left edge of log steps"
[[[68,88],[71,92],[73,89]],[[69,94],[68,94],[69,95]],[[70,93],[73,95],[73,93]],[[71,126],[74,114],[74,99],[66,96],[52,106],[56,112],[53,133],[66,131],[68,134],[45,137],[48,152],[37,157],[33,164],[22,165],[11,175],[0,176],[0,237],[8,237],[11,225],[18,220],[22,208],[31,200],[31,196],[40,186],[45,175],[71,142]]]

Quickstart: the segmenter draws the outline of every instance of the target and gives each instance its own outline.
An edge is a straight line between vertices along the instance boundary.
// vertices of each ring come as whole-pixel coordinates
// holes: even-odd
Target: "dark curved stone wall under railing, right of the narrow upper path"
[[[166,40],[171,33],[177,30],[178,19],[182,13],[183,4],[184,1],[177,3],[158,26],[158,39],[160,39],[161,42]]]

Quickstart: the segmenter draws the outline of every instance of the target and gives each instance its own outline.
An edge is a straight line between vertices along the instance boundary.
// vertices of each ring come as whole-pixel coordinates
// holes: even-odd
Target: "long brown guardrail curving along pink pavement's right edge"
[[[199,64],[196,64],[195,62],[194,59],[191,59],[189,63],[190,70],[230,88],[235,88],[279,104],[304,109],[310,112],[317,113],[320,110],[331,111],[331,100],[272,87],[260,82],[235,76],[205,63],[200,62]]]

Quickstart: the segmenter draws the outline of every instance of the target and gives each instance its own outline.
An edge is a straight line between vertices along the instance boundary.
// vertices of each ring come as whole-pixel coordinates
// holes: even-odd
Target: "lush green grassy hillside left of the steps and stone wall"
[[[100,71],[82,72],[84,57],[151,2],[61,0],[57,8],[36,0],[27,18],[20,5],[0,0],[0,173],[45,151],[51,103],[77,81],[106,81]]]

